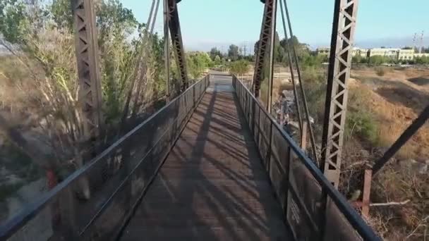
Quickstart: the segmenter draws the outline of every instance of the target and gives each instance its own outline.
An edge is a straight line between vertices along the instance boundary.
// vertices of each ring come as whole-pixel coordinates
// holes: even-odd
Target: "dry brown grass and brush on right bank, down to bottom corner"
[[[381,78],[377,76],[375,70],[355,71],[354,77],[358,80],[351,81],[351,88],[356,87],[369,93],[365,96],[367,100],[365,105],[374,112],[373,118],[377,121],[377,147],[390,147],[418,116],[422,106],[425,105],[425,99],[420,97],[428,94],[428,87],[416,86],[409,81],[409,78],[418,78],[428,73],[428,70],[389,70]],[[379,88],[392,89],[392,91],[380,93]],[[406,96],[403,95],[404,92]],[[413,102],[410,97],[418,99],[420,103]],[[361,148],[360,144],[357,144],[355,149],[349,147],[349,143],[347,146],[347,149],[351,149],[352,152],[345,153],[345,156],[351,157],[351,160],[345,161],[349,166],[344,169],[344,172],[348,172],[344,176],[355,183],[354,179],[359,180],[361,176],[354,173],[358,172],[361,166],[355,167],[353,164],[376,160],[385,151],[382,149],[381,152],[370,152],[368,158],[362,158],[356,155],[358,153],[356,149]],[[406,199],[411,202],[402,206],[371,207],[368,223],[385,240],[429,240],[429,218],[427,218],[429,175],[418,173],[419,162],[429,159],[429,126],[424,125],[400,149],[396,158],[397,161],[388,163],[375,176],[371,202],[402,202]],[[417,163],[409,159],[415,159]],[[350,168],[351,166],[353,168]],[[345,182],[343,185],[346,186],[348,180],[343,180]],[[358,188],[361,188],[360,185]],[[353,192],[353,190],[346,191]]]

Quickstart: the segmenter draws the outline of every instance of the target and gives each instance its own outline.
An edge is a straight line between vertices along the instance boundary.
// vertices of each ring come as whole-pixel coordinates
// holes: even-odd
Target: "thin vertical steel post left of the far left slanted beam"
[[[169,7],[168,0],[164,1],[164,64],[165,64],[165,90],[167,103],[170,101],[170,42],[169,42]]]

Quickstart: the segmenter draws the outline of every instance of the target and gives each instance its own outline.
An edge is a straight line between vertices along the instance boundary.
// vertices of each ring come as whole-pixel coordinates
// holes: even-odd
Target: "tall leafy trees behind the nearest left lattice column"
[[[32,116],[37,116],[37,123],[44,123],[40,128],[49,142],[50,154],[55,156],[56,166],[52,168],[55,173],[59,171],[56,169],[61,169],[64,172],[58,173],[66,175],[70,164],[74,168],[82,165],[81,153],[87,152],[82,149],[87,145],[81,143],[83,126],[76,81],[73,14],[68,0],[46,4],[38,2],[0,1],[0,35],[3,37],[0,45],[11,51],[17,69],[26,76],[20,77],[6,68],[1,69],[1,74],[11,82],[13,91],[23,93],[21,96],[24,97],[15,99],[25,106],[18,111],[30,111]],[[141,33],[145,25],[139,24],[131,10],[124,8],[119,1],[96,1],[95,11],[101,56],[102,111],[106,128],[114,130],[105,133],[116,133],[121,113],[126,109],[125,101],[130,99],[128,97],[133,97],[130,106],[133,106],[135,116],[143,111],[140,106],[145,98],[152,97],[155,92],[155,89],[145,89],[146,84],[150,82],[150,85],[162,88],[163,40],[157,35],[148,35],[147,38],[134,35],[138,30]],[[145,58],[139,61],[138,56],[143,54]],[[135,91],[131,85],[134,80],[141,91]],[[13,101],[6,106],[11,104]],[[7,126],[1,125],[0,128]],[[9,139],[16,140],[16,136],[9,135]],[[113,139],[110,136],[105,138],[108,141]],[[18,146],[23,147],[22,143],[25,142],[18,143]],[[30,156],[38,163],[40,158]]]

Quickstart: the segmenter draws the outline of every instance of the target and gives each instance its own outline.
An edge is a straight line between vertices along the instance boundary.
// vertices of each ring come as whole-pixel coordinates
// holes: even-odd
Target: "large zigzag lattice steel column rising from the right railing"
[[[338,187],[358,0],[336,0],[320,168]]]

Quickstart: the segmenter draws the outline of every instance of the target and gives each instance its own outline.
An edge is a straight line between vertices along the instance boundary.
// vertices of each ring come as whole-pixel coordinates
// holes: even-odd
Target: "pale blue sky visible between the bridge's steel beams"
[[[140,22],[146,22],[152,0],[121,0]],[[311,47],[327,46],[332,30],[334,0],[288,0],[294,34]],[[411,45],[413,35],[424,30],[429,39],[428,0],[359,1],[356,45],[361,47],[401,47]],[[179,3],[181,31],[186,49],[228,48],[229,44],[248,48],[259,38],[263,4],[259,0],[182,0]],[[283,36],[280,13],[277,31]],[[157,32],[162,34],[162,1]],[[429,40],[423,40],[425,46]],[[253,47],[252,47],[253,51]]]

